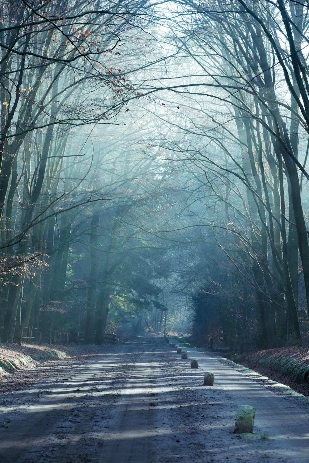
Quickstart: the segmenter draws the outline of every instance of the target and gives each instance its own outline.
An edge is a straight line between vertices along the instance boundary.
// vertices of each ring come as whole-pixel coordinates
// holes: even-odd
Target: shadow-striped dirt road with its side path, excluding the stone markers
[[[198,369],[145,336],[3,376],[1,463],[308,462],[308,399],[186,350]],[[238,404],[253,434],[233,433]]]

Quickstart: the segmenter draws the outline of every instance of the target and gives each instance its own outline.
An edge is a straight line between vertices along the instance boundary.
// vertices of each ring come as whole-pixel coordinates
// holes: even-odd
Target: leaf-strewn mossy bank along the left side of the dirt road
[[[88,347],[87,347],[88,348]],[[0,376],[15,370],[30,369],[47,360],[58,360],[82,354],[85,346],[0,344]]]

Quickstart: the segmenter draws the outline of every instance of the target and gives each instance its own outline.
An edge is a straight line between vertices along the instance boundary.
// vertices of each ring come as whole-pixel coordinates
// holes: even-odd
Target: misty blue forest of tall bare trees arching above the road
[[[1,2],[1,342],[308,344],[308,13]]]

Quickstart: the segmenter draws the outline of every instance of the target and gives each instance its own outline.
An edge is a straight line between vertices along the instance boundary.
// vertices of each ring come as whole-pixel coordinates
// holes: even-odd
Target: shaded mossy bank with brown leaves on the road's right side
[[[246,354],[224,354],[235,363],[257,371],[296,392],[309,396],[309,350],[280,347]]]

